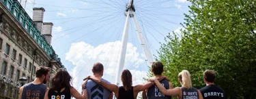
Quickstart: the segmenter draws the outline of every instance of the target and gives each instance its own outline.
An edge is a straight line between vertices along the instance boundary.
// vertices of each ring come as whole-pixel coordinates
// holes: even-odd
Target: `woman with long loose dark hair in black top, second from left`
[[[44,99],[87,99],[87,90],[83,90],[83,95],[72,87],[72,77],[64,68],[59,68],[56,75],[51,80],[51,89],[46,93]]]

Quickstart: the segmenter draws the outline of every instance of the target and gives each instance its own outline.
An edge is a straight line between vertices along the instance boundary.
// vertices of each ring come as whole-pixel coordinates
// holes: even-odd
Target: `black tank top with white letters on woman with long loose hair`
[[[71,99],[70,87],[66,87],[62,92],[61,90],[55,92],[55,90],[50,89],[48,92],[48,99]]]

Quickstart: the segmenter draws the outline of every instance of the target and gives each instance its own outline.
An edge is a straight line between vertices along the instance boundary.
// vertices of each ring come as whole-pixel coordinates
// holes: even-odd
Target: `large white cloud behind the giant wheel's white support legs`
[[[81,91],[79,87],[81,87],[82,80],[88,75],[92,75],[91,68],[95,62],[101,62],[104,65],[103,78],[115,83],[120,48],[121,41],[104,43],[97,47],[85,42],[72,43],[69,52],[66,53],[66,60],[74,65],[72,70],[68,70],[73,77],[74,87]],[[141,54],[137,52],[137,47],[134,47],[132,43],[128,43],[124,68],[139,67],[140,64],[145,63],[145,60],[141,59],[141,57]],[[146,71],[138,71],[134,68],[130,70],[133,85],[143,83],[143,77],[147,75]]]

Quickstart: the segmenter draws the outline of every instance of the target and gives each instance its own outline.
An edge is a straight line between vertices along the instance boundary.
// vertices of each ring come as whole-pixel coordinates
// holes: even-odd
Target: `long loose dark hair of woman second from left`
[[[60,68],[51,80],[51,89],[61,90],[63,87],[72,87],[72,77],[68,71]]]

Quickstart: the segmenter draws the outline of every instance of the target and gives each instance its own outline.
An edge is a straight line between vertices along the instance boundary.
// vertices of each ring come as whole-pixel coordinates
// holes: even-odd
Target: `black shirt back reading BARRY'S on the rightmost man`
[[[225,92],[217,85],[207,85],[200,89],[204,99],[225,99]]]

